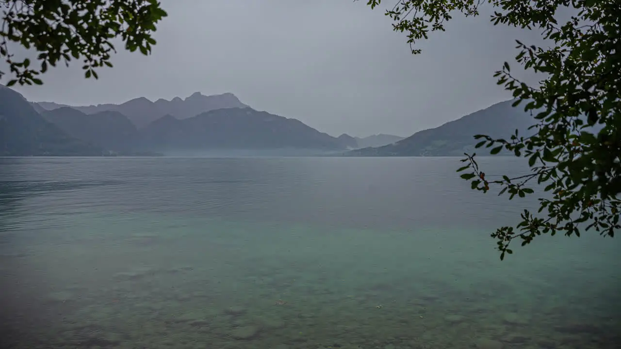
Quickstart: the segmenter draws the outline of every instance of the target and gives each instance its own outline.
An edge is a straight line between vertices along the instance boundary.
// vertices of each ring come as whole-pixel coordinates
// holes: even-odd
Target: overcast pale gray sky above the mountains
[[[510,99],[492,75],[517,54],[515,39],[539,36],[494,27],[487,6],[480,17],[456,16],[412,55],[366,0],[162,2],[169,16],[152,55],[121,50],[99,80],[84,79],[74,61],[48,71],[43,86],[17,90],[72,105],[232,92],[332,135],[407,136]]]

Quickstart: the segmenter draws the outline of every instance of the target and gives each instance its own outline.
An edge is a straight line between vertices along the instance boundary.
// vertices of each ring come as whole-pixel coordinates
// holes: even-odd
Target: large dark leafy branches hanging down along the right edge
[[[381,0],[369,0],[376,7]],[[621,0],[399,0],[386,11],[394,30],[406,32],[414,45],[456,14],[478,16],[479,7],[491,6],[495,25],[538,30],[550,47],[517,41],[517,66],[542,73],[537,86],[515,78],[504,62],[494,76],[512,91],[514,107],[522,104],[535,117],[532,135],[507,135],[494,139],[475,135],[490,153],[509,150],[528,158],[531,173],[525,176],[486,177],[474,160],[462,161],[461,178],[486,193],[500,187],[499,195],[524,197],[537,181],[547,192],[539,198],[538,212],[524,210],[517,227],[492,233],[501,259],[512,253],[509,244],[530,243],[542,233],[580,235],[594,229],[613,237],[619,224],[621,202]],[[561,22],[560,11],[574,13]],[[412,53],[420,53],[412,47]]]

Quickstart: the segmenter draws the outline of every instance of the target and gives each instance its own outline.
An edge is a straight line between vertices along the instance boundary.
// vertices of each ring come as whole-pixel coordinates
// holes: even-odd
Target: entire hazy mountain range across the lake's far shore
[[[234,94],[155,102],[68,106],[29,102],[0,85],[0,155],[93,156],[287,150],[289,155],[455,156],[471,152],[475,134],[508,137],[534,123],[512,101],[407,138],[377,134],[332,137],[297,119],[256,111]]]

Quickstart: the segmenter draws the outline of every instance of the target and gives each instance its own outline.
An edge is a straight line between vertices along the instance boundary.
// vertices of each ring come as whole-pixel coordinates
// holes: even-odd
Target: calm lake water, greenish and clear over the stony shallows
[[[458,160],[2,158],[0,346],[619,347],[619,239],[501,262]]]

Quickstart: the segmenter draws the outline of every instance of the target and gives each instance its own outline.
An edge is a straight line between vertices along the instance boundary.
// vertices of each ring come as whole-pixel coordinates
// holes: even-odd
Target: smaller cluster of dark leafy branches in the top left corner
[[[112,40],[120,38],[131,52],[151,52],[155,24],[166,12],[156,0],[0,0],[2,28],[0,56],[9,72],[7,86],[42,84],[38,77],[63,61],[83,60],[86,78],[97,78],[96,68],[112,66],[116,52]],[[9,50],[14,42],[35,50],[36,61],[15,60]]]

